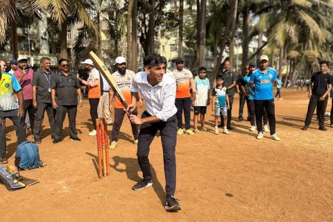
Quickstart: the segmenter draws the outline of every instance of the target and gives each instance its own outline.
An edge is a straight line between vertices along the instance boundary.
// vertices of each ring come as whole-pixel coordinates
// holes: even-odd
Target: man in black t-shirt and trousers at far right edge
[[[329,64],[327,61],[320,62],[321,71],[311,76],[311,84],[309,85],[309,106],[307,108],[307,118],[305,119],[305,126],[302,130],[307,130],[311,123],[314,110],[317,108],[319,130],[326,131],[324,126],[325,110],[327,107],[328,94],[332,89],[332,77],[328,73]],[[312,86],[312,83],[314,84]]]

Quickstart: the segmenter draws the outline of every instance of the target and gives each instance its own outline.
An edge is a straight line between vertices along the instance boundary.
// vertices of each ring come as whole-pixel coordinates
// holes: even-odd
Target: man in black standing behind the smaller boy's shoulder
[[[236,81],[237,81],[237,74],[234,71],[231,71],[231,64],[229,60],[224,61],[224,71],[222,73],[224,85],[227,87],[227,93],[229,97],[229,106],[230,109],[228,110],[228,123],[227,129],[233,130],[234,128],[231,127],[231,112],[232,112],[232,103],[234,101],[234,92],[236,92]],[[223,127],[223,116],[221,115],[221,127]]]

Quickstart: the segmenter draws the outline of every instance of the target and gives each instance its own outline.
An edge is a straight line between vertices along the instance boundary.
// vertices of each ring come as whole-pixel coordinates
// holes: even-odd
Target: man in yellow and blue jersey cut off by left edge
[[[6,119],[9,118],[15,128],[17,144],[26,141],[24,129],[22,87],[12,74],[4,72],[6,62],[0,60],[0,164],[8,163],[6,158]],[[17,92],[17,99],[15,93]]]

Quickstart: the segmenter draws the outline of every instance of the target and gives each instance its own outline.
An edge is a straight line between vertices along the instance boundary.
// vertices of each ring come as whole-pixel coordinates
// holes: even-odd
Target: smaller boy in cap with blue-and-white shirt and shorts
[[[223,133],[230,134],[227,129],[227,116],[229,106],[229,96],[227,87],[223,85],[223,76],[216,76],[216,86],[212,91],[212,111],[215,114],[215,134],[219,134],[219,116],[223,116]]]

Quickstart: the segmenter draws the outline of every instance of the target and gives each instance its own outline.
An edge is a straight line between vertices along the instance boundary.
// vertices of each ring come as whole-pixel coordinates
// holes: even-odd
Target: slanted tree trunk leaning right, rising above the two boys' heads
[[[219,69],[220,69],[220,65],[221,65],[222,57],[223,57],[223,51],[225,49],[225,45],[227,44],[228,38],[230,37],[230,31],[232,31],[232,29],[231,29],[232,23],[235,22],[234,18],[237,15],[237,5],[238,5],[238,0],[232,1],[232,6],[230,8],[229,14],[232,14],[234,16],[232,16],[232,17],[230,16],[228,18],[227,24],[225,26],[225,32],[223,35],[223,40],[221,42],[220,51],[219,51],[219,58],[217,59],[216,67],[214,67],[214,71],[213,71],[214,79],[216,78],[216,75],[219,73]]]

